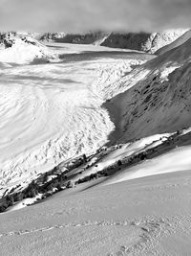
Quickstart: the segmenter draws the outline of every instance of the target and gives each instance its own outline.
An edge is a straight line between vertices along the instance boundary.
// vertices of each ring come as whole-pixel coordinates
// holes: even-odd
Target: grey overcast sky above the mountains
[[[156,31],[191,27],[191,0],[0,0],[0,31]]]

